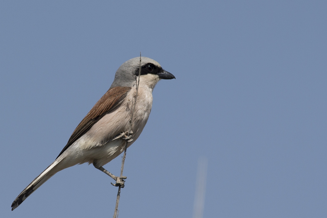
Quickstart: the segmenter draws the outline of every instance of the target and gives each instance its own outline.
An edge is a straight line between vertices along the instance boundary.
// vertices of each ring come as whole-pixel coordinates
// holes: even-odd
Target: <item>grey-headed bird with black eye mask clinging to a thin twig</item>
[[[137,57],[116,71],[109,90],[78,124],[55,161],[13,201],[16,209],[51,176],[68,167],[89,163],[124,186],[126,177],[112,175],[103,165],[119,156],[140,136],[152,108],[152,91],[161,79],[176,79],[150,58]],[[133,110],[133,111],[132,111]]]

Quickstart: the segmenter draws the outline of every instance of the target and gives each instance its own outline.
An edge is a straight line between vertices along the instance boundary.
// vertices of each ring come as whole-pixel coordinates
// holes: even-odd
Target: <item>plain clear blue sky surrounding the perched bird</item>
[[[117,188],[92,165],[65,169],[16,210],[139,56],[160,81],[129,147],[119,217],[326,217],[326,1],[1,1],[1,217],[111,217]],[[105,165],[119,174],[120,158]]]

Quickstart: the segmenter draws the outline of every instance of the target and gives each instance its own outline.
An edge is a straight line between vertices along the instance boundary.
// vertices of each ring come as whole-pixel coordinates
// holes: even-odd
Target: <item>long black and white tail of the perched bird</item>
[[[46,182],[51,176],[55,175],[58,171],[55,170],[55,166],[60,161],[55,160],[50,166],[48,166],[38,177],[36,177],[24,190],[21,192],[14,202],[11,204],[11,210],[16,209],[31,193],[39,188],[44,182]]]

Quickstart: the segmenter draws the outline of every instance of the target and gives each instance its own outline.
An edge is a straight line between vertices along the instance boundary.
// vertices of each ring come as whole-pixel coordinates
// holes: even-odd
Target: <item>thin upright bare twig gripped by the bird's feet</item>
[[[133,97],[133,101],[132,101],[131,115],[130,115],[130,120],[129,120],[129,134],[131,134],[131,130],[132,130],[133,115],[134,115],[134,110],[135,110],[135,105],[136,105],[137,94],[138,94],[138,91],[139,91],[140,75],[141,75],[141,60],[142,59],[141,59],[141,52],[140,52],[139,75],[138,75],[138,77],[135,77],[135,80],[136,80],[136,95]],[[136,79],[136,78],[138,78],[138,79]],[[123,177],[123,170],[124,170],[124,164],[125,164],[125,158],[126,158],[127,144],[128,144],[128,142],[126,141],[125,151],[124,151],[124,155],[123,155],[123,158],[122,158],[122,166],[120,168],[120,177]],[[118,210],[118,204],[119,204],[119,199],[120,199],[120,189],[121,189],[121,186],[118,187],[116,206],[115,206],[115,212],[113,213],[113,218],[118,217],[118,211],[119,211]]]

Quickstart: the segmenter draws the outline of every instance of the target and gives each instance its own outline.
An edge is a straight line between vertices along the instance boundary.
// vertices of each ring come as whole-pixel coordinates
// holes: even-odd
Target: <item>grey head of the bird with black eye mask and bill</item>
[[[132,87],[135,84],[136,76],[139,75],[139,66],[140,57],[129,59],[123,63],[116,71],[115,79],[110,88],[117,86]],[[146,74],[157,75],[159,79],[175,79],[175,76],[163,70],[157,61],[142,57],[141,76]]]

